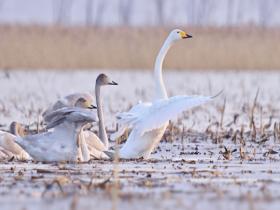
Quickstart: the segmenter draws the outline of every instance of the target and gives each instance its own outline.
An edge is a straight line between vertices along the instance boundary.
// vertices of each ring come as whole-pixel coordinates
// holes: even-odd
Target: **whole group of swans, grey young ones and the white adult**
[[[95,84],[95,101],[90,94],[76,93],[58,100],[44,113],[45,132],[26,134],[19,132],[16,123],[11,132],[0,131],[0,158],[17,158],[43,162],[85,162],[90,159],[113,159],[117,153],[121,159],[148,159],[159,144],[169,120],[190,108],[211,101],[215,96],[168,97],[162,77],[163,60],[170,47],[178,40],[191,38],[186,32],[175,29],[170,32],[160,49],[154,67],[155,97],[153,101],[138,103],[129,111],[116,115],[119,130],[117,138],[127,130],[131,132],[123,146],[110,150],[103,116],[101,87],[117,85],[107,75],[100,74]],[[87,129],[98,123],[98,136]]]

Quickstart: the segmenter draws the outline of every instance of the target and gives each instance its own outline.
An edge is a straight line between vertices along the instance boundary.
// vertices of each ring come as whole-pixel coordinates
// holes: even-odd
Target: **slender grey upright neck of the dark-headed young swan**
[[[104,125],[104,117],[103,117],[103,103],[100,96],[100,85],[95,85],[95,96],[96,96],[96,105],[97,105],[97,115],[99,119],[99,137],[101,141],[104,143],[106,149],[109,147],[108,136],[106,133],[105,125]]]

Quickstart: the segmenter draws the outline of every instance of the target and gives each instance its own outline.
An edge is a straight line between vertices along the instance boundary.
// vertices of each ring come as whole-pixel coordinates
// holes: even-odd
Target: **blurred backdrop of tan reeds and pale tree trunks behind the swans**
[[[278,0],[0,0],[2,69],[280,69]]]

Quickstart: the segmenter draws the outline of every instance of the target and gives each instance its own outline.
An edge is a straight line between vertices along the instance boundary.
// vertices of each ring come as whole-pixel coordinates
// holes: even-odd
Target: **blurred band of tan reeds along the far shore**
[[[183,27],[183,29],[185,29]],[[163,28],[0,26],[0,68],[151,69]],[[171,69],[279,69],[280,29],[186,28]]]

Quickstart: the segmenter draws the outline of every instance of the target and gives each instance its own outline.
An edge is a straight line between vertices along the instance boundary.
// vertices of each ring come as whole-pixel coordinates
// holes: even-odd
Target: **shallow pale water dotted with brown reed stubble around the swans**
[[[13,71],[7,77],[0,72],[2,128],[7,129],[11,121],[37,122],[40,113],[60,96],[93,92],[98,73]],[[115,113],[152,98],[152,74],[105,73],[120,84],[102,90],[107,127],[114,130]],[[274,123],[279,123],[280,73],[165,72],[164,78],[169,95],[224,92],[213,103],[172,122],[148,161],[114,164],[92,160],[76,165],[2,162],[1,210],[279,209],[280,141],[273,134]],[[257,135],[252,139],[249,120],[258,88],[254,112]],[[223,125],[219,127],[225,98]],[[233,123],[235,114],[239,117]],[[267,129],[260,129],[265,125]],[[237,130],[242,136],[239,132],[234,138]],[[227,156],[224,147],[233,152]]]

